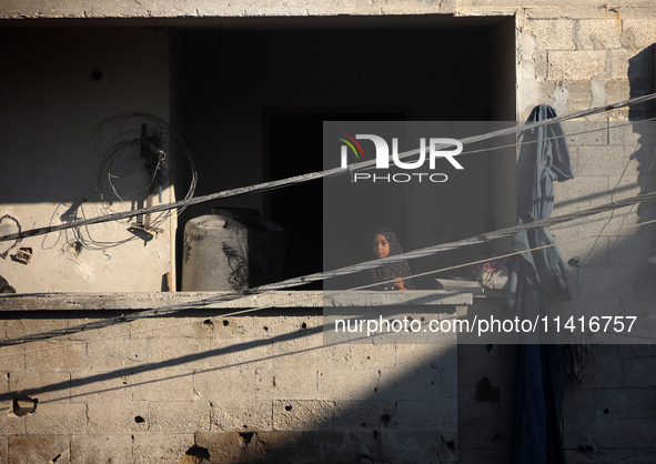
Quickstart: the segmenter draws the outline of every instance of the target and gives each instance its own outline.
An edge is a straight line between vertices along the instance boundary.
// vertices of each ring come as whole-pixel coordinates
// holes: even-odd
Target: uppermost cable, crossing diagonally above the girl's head
[[[468,137],[468,138],[460,140],[460,142],[463,145],[466,145],[466,144],[471,144],[471,143],[475,143],[475,142],[482,142],[484,140],[494,139],[497,137],[512,135],[512,134],[516,134],[516,133],[524,132],[527,130],[536,129],[536,128],[539,128],[543,125],[555,124],[555,123],[568,121],[568,120],[576,119],[576,118],[585,118],[585,117],[597,114],[601,112],[606,112],[606,111],[615,110],[618,108],[628,107],[632,104],[643,103],[645,101],[650,101],[654,99],[656,99],[656,93],[636,97],[636,98],[624,100],[624,101],[620,101],[617,103],[596,107],[596,108],[592,108],[588,110],[582,110],[582,111],[565,114],[565,115],[557,117],[557,118],[545,119],[542,121],[535,121],[535,122],[531,122],[531,123],[526,123],[526,124],[522,124],[522,125],[515,125],[512,128],[501,129],[497,131],[487,132],[487,133],[480,134],[480,135]],[[421,149],[414,149],[414,150],[410,150],[404,153],[400,153],[398,159],[404,159],[404,158],[412,157],[414,154],[418,154],[420,151],[421,151]],[[392,160],[392,155],[390,157],[390,159]],[[43,235],[47,233],[57,232],[57,231],[61,231],[61,230],[65,230],[65,229],[79,228],[82,225],[99,224],[99,223],[103,223],[103,222],[111,222],[111,221],[118,221],[118,220],[128,219],[128,218],[134,218],[134,216],[139,216],[142,214],[148,214],[148,213],[168,211],[168,210],[173,210],[173,209],[178,209],[178,208],[186,208],[186,206],[190,206],[193,204],[206,203],[206,202],[214,201],[214,200],[221,200],[221,199],[233,198],[233,196],[239,196],[239,195],[244,195],[244,194],[252,194],[252,193],[262,193],[262,192],[266,192],[266,191],[271,191],[271,190],[276,190],[276,189],[281,189],[281,188],[295,185],[295,184],[299,184],[302,182],[307,182],[311,180],[350,174],[355,171],[360,171],[360,170],[363,170],[366,168],[374,167],[375,163],[376,163],[376,160],[372,159],[372,160],[366,160],[366,161],[361,161],[357,163],[349,164],[346,168],[341,168],[341,167],[333,168],[333,169],[329,169],[329,170],[324,170],[324,171],[316,171],[316,172],[294,175],[291,178],[281,179],[281,180],[276,180],[276,181],[269,181],[269,182],[252,184],[252,185],[242,186],[242,188],[238,188],[238,189],[225,190],[225,191],[212,193],[209,195],[184,199],[184,200],[180,200],[180,201],[172,202],[172,203],[163,203],[163,204],[158,204],[158,205],[148,206],[148,208],[141,208],[141,209],[137,209],[137,210],[132,210],[132,211],[111,213],[111,214],[105,214],[102,216],[78,220],[78,221],[73,221],[73,222],[69,222],[69,223],[64,223],[64,224],[48,225],[48,226],[43,226],[43,228],[30,229],[27,231],[0,235],[0,242],[6,242],[6,241],[10,241],[10,240],[21,240],[21,239],[26,239],[29,236]]]

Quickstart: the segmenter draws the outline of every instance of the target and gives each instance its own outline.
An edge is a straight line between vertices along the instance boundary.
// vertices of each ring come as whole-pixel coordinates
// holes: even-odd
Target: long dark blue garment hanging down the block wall
[[[536,107],[527,122],[555,118],[554,109]],[[551,218],[554,181],[573,179],[569,150],[559,123],[523,133],[517,162],[518,223]],[[546,228],[513,236],[516,251],[555,243]],[[549,313],[549,302],[568,300],[567,271],[557,246],[518,256],[508,279],[508,303],[521,319],[535,320]],[[561,464],[565,454],[561,437],[564,374],[558,345],[529,335],[517,346],[513,462]]]

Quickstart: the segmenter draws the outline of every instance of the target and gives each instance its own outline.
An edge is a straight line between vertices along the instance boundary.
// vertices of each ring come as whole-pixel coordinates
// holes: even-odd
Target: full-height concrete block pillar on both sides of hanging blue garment
[[[492,13],[494,9],[467,2]],[[511,7],[511,4],[508,4]],[[652,93],[656,24],[649,8],[513,8],[517,20],[517,115],[538,103],[558,114]],[[503,3],[495,7],[503,10]],[[575,179],[556,184],[554,215],[654,190],[654,103],[564,124]],[[654,310],[652,203],[554,226],[581,314],[644,315]],[[606,235],[598,236],[601,232]],[[581,240],[586,236],[589,239]],[[503,304],[503,302],[490,302]],[[637,327],[640,331],[640,327]],[[643,332],[640,332],[643,333]],[[653,332],[644,345],[593,345],[565,389],[567,462],[652,462]],[[506,463],[512,455],[511,346],[458,347],[461,462]],[[564,356],[573,373],[575,359]],[[471,369],[463,367],[464,365]],[[577,379],[577,380],[575,380]],[[482,395],[483,393],[483,395]]]

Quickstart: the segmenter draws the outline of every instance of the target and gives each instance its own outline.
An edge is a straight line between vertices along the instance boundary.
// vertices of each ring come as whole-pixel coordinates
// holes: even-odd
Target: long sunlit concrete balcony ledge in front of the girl
[[[232,301],[216,301],[230,292],[174,293],[24,293],[0,296],[0,312],[9,311],[139,311],[170,306],[215,310],[248,307],[432,306],[471,305],[471,293],[444,290],[405,292],[272,291]]]

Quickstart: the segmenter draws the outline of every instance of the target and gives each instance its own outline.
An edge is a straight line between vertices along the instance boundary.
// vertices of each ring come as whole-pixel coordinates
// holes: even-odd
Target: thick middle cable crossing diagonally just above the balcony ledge
[[[173,305],[170,305],[166,307],[137,311],[137,312],[133,312],[130,314],[122,314],[122,315],[114,316],[114,317],[107,317],[107,319],[102,319],[99,321],[89,322],[85,324],[79,324],[79,325],[75,325],[72,327],[57,329],[57,330],[53,330],[50,332],[31,334],[31,335],[27,335],[27,336],[18,337],[18,339],[3,340],[3,341],[0,341],[0,346],[17,345],[17,344],[22,344],[22,343],[48,340],[48,339],[52,339],[55,336],[70,335],[73,333],[85,332],[85,331],[90,331],[90,330],[94,330],[94,329],[102,329],[102,327],[107,327],[107,326],[123,323],[123,322],[131,322],[131,321],[135,321],[138,319],[154,317],[154,316],[169,316],[172,314],[176,314],[181,311],[201,309],[201,307],[205,307],[210,304],[214,304],[214,303],[234,301],[234,300],[242,299],[244,296],[262,294],[262,293],[265,293],[269,291],[284,290],[284,289],[289,289],[292,286],[302,285],[302,284],[306,284],[306,283],[315,282],[315,281],[320,281],[320,280],[327,280],[327,279],[332,279],[335,276],[360,273],[362,271],[366,271],[372,268],[377,268],[377,266],[386,264],[386,263],[404,261],[404,260],[413,260],[413,259],[417,259],[417,258],[425,258],[425,256],[431,256],[431,255],[434,255],[434,254],[437,254],[437,253],[441,253],[444,251],[448,251],[448,250],[455,250],[455,249],[460,249],[460,248],[464,248],[464,246],[468,246],[468,245],[486,243],[492,240],[497,240],[497,239],[511,236],[517,232],[528,231],[528,230],[549,226],[549,225],[555,225],[555,224],[573,221],[576,219],[582,219],[582,218],[591,216],[594,214],[599,214],[599,213],[603,213],[606,211],[614,211],[619,208],[629,206],[629,205],[633,205],[633,204],[636,204],[636,203],[639,203],[639,202],[643,202],[646,200],[654,200],[654,199],[656,199],[656,192],[636,195],[636,196],[632,196],[632,198],[626,198],[623,200],[618,200],[618,201],[615,201],[612,203],[607,203],[607,204],[592,208],[592,209],[584,210],[584,211],[578,211],[578,212],[564,214],[564,215],[559,215],[559,216],[547,218],[547,219],[538,220],[538,221],[531,222],[531,223],[518,224],[518,225],[514,225],[512,228],[506,228],[506,229],[501,229],[501,230],[493,231],[493,232],[487,232],[487,233],[484,233],[481,235],[472,236],[472,238],[455,241],[455,242],[448,242],[448,243],[437,244],[437,245],[433,245],[433,246],[427,246],[427,248],[423,248],[420,250],[406,252],[403,254],[397,254],[394,256],[387,256],[387,258],[379,259],[379,260],[364,261],[364,262],[361,262],[357,264],[340,268],[340,269],[327,271],[327,272],[319,272],[319,273],[303,275],[303,276],[299,276],[299,278],[292,278],[292,279],[287,279],[287,280],[281,281],[281,282],[260,285],[260,286],[244,290],[244,291],[236,291],[236,292],[231,292],[231,293],[226,293],[226,294],[222,294],[222,295],[213,295],[213,296],[200,299],[200,300],[196,300],[193,302],[173,304]],[[488,260],[483,260],[483,262],[485,262],[485,261],[488,261]],[[12,296],[9,296],[9,297],[12,297]],[[20,297],[20,296],[18,296],[18,297]],[[254,309],[253,311],[258,311],[258,310],[259,309]]]

